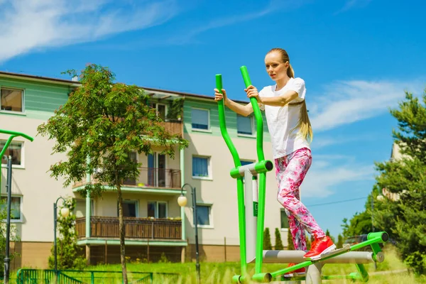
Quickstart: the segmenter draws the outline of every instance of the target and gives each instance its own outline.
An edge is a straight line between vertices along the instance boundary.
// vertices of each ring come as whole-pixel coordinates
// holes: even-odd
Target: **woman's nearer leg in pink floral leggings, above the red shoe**
[[[278,202],[300,222],[301,227],[305,227],[310,234],[313,234],[315,239],[323,239],[324,231],[318,226],[305,205],[295,196],[295,192],[298,193],[298,189],[312,163],[310,150],[307,148],[299,149],[285,156],[283,162],[287,166],[283,172],[279,173],[280,177],[277,177],[280,180]],[[293,237],[295,236],[293,235]]]

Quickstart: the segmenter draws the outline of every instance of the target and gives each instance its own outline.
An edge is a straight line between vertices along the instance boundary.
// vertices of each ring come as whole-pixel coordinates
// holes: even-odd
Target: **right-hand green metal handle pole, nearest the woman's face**
[[[243,75],[244,84],[246,87],[251,85],[249,71],[246,66],[241,66],[241,75]],[[258,162],[265,160],[263,154],[263,118],[261,109],[259,109],[256,98],[250,98],[251,106],[253,107],[254,117],[256,119],[256,145]],[[258,190],[258,224],[257,224],[257,239],[256,239],[256,265],[255,273],[262,272],[263,263],[263,227],[265,226],[265,199],[266,199],[266,173],[259,174],[259,190]]]

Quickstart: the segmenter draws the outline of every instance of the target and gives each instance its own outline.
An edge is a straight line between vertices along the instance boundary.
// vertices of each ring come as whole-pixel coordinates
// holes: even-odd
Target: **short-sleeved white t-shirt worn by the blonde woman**
[[[297,92],[298,97],[290,103],[302,102],[305,99],[306,88],[305,81],[301,78],[290,78],[285,86],[275,91],[276,84],[264,87],[259,92],[260,97],[278,97],[288,90]],[[273,158],[281,158],[300,148],[310,148],[310,143],[299,133],[297,126],[300,119],[300,108],[302,104],[285,107],[262,106],[265,110],[266,122],[268,123],[269,133],[271,134]],[[292,131],[292,129],[294,129]]]

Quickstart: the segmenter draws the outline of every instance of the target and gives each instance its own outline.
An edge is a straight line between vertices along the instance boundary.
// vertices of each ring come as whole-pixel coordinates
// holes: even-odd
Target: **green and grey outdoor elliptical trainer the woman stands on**
[[[246,66],[240,68],[246,87],[251,85]],[[222,75],[216,75],[216,87],[222,93]],[[238,199],[238,220],[240,239],[241,275],[234,275],[234,283],[269,283],[273,280],[305,280],[307,284],[321,283],[322,279],[351,279],[368,281],[368,272],[364,263],[382,262],[384,254],[379,243],[388,241],[385,231],[368,234],[367,241],[354,246],[344,245],[329,253],[324,253],[319,260],[303,258],[305,251],[263,251],[263,229],[265,221],[266,173],[273,169],[271,160],[265,160],[263,154],[263,118],[256,98],[250,98],[256,119],[256,148],[258,161],[249,165],[241,165],[239,154],[226,130],[224,100],[218,102],[219,123],[222,137],[231,152],[234,168],[231,177],[236,179]],[[245,187],[245,188],[244,188]],[[364,246],[371,246],[371,252],[356,251]],[[248,263],[255,263],[254,273],[248,272]],[[262,263],[297,263],[291,268],[266,273],[262,271]],[[322,275],[325,263],[355,263],[357,271],[349,275]],[[299,268],[307,268],[306,276],[283,277]]]

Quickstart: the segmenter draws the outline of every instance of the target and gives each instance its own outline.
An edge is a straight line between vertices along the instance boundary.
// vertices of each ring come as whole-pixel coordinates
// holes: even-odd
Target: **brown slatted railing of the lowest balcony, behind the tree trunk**
[[[86,237],[86,217],[75,220],[79,239]],[[182,239],[182,222],[169,219],[124,218],[127,239]],[[118,239],[118,217],[90,217],[90,237]]]

